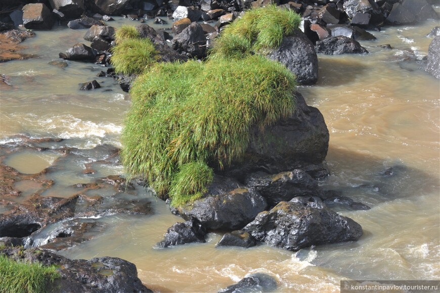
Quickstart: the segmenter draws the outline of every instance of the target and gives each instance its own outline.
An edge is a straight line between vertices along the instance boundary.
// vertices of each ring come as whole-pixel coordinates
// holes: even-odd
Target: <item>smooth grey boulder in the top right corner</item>
[[[394,3],[386,21],[390,24],[411,24],[426,19],[438,19],[438,14],[426,0],[403,0]]]

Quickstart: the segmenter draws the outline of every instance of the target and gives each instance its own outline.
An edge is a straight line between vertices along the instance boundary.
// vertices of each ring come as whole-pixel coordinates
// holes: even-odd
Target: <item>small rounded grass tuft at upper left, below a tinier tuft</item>
[[[116,73],[139,74],[158,61],[158,52],[148,38],[125,39],[111,49]]]

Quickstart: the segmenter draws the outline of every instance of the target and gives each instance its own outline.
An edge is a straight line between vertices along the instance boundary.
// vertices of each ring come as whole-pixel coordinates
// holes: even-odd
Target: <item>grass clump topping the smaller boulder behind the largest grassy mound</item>
[[[240,57],[244,47],[246,53],[276,48],[283,41],[283,36],[291,35],[300,22],[298,14],[275,5],[248,10],[242,18],[223,30],[214,43],[211,58]],[[237,52],[232,53],[235,50]]]

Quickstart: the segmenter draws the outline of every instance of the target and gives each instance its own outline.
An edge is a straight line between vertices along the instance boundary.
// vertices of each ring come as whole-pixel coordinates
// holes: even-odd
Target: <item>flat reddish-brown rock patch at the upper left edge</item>
[[[26,38],[34,36],[31,31],[10,30],[0,33],[0,63],[11,60],[25,60],[32,58],[35,55],[20,53],[25,47],[20,46],[19,43]]]

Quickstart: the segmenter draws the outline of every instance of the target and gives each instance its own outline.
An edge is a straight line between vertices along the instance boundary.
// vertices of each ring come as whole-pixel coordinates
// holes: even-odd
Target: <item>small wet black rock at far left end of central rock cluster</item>
[[[158,247],[182,245],[192,242],[205,242],[207,230],[195,218],[184,223],[175,223],[168,228],[162,241],[157,243]]]

